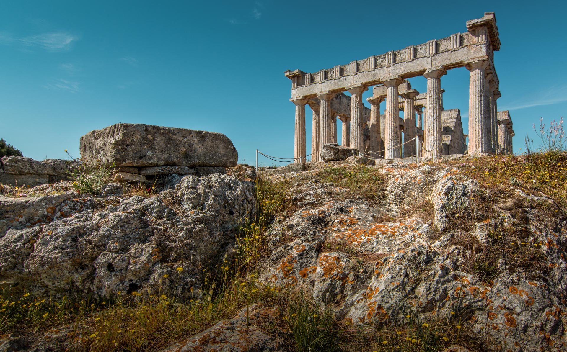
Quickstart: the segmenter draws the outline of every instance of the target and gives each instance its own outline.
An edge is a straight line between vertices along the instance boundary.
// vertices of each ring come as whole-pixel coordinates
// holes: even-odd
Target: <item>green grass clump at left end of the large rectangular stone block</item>
[[[114,179],[115,164],[103,165],[97,163],[90,165],[81,163],[73,171],[69,171],[69,178],[71,179],[73,188],[80,193],[100,194],[103,186],[109,184]]]

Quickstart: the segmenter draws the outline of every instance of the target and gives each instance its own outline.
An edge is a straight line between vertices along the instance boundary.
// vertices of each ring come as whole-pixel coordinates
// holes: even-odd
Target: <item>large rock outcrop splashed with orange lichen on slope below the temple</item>
[[[565,219],[515,189],[484,209],[483,191],[458,169],[381,170],[388,183],[379,206],[345,199],[349,190],[333,184],[296,184],[299,209],[274,223],[260,281],[308,287],[349,324],[446,319],[491,349],[565,348]],[[515,254],[490,262],[487,251]]]

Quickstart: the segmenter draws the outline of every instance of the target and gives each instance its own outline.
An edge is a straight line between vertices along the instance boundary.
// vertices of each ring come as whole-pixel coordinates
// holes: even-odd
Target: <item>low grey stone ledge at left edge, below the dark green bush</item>
[[[0,183],[36,186],[67,180],[68,173],[79,167],[74,160],[46,159],[43,162],[24,156],[4,156],[0,168]]]

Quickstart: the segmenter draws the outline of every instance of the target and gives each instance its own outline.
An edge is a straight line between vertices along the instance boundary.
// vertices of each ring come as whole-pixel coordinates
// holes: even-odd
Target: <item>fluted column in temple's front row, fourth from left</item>
[[[400,149],[395,148],[397,143],[398,134],[400,132],[400,108],[398,102],[397,87],[402,82],[401,78],[393,78],[385,80],[386,86],[386,126],[384,138],[384,159],[398,159],[400,158]],[[382,126],[381,126],[382,127]]]

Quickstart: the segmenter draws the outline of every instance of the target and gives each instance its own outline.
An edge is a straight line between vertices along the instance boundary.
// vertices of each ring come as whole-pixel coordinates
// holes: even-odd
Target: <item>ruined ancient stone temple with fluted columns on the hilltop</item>
[[[466,26],[464,33],[316,73],[285,71],[295,104],[295,162],[306,162],[306,104],[313,111],[312,161],[319,161],[324,144],[338,142],[337,117],[342,121],[341,145],[373,159],[511,153],[510,114],[498,112],[496,103],[500,97],[494,68],[494,52],[500,50],[496,16],[485,12]],[[470,71],[468,134],[463,134],[460,110],[443,108],[441,88],[447,70],[463,66]],[[420,75],[427,79],[422,94],[407,80]],[[370,87],[368,109],[362,93]],[[386,107],[380,114],[383,101]]]

